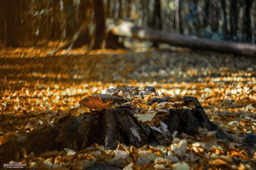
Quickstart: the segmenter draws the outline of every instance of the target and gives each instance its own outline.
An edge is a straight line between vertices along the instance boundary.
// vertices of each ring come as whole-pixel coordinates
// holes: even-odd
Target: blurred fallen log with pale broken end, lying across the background
[[[127,21],[123,21],[114,27],[113,33],[119,36],[136,37],[139,39],[162,42],[181,47],[256,56],[256,46],[250,44],[229,41],[213,41],[206,38],[163,32],[152,28],[140,28]]]

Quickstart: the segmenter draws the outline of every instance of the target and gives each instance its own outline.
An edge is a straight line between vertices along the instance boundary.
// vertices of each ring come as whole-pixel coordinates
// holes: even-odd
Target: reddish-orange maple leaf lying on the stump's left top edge
[[[87,96],[83,100],[79,101],[79,104],[83,107],[88,107],[90,110],[101,111],[103,109],[110,109],[110,103],[112,101],[108,101],[107,103],[103,103],[99,96]]]

